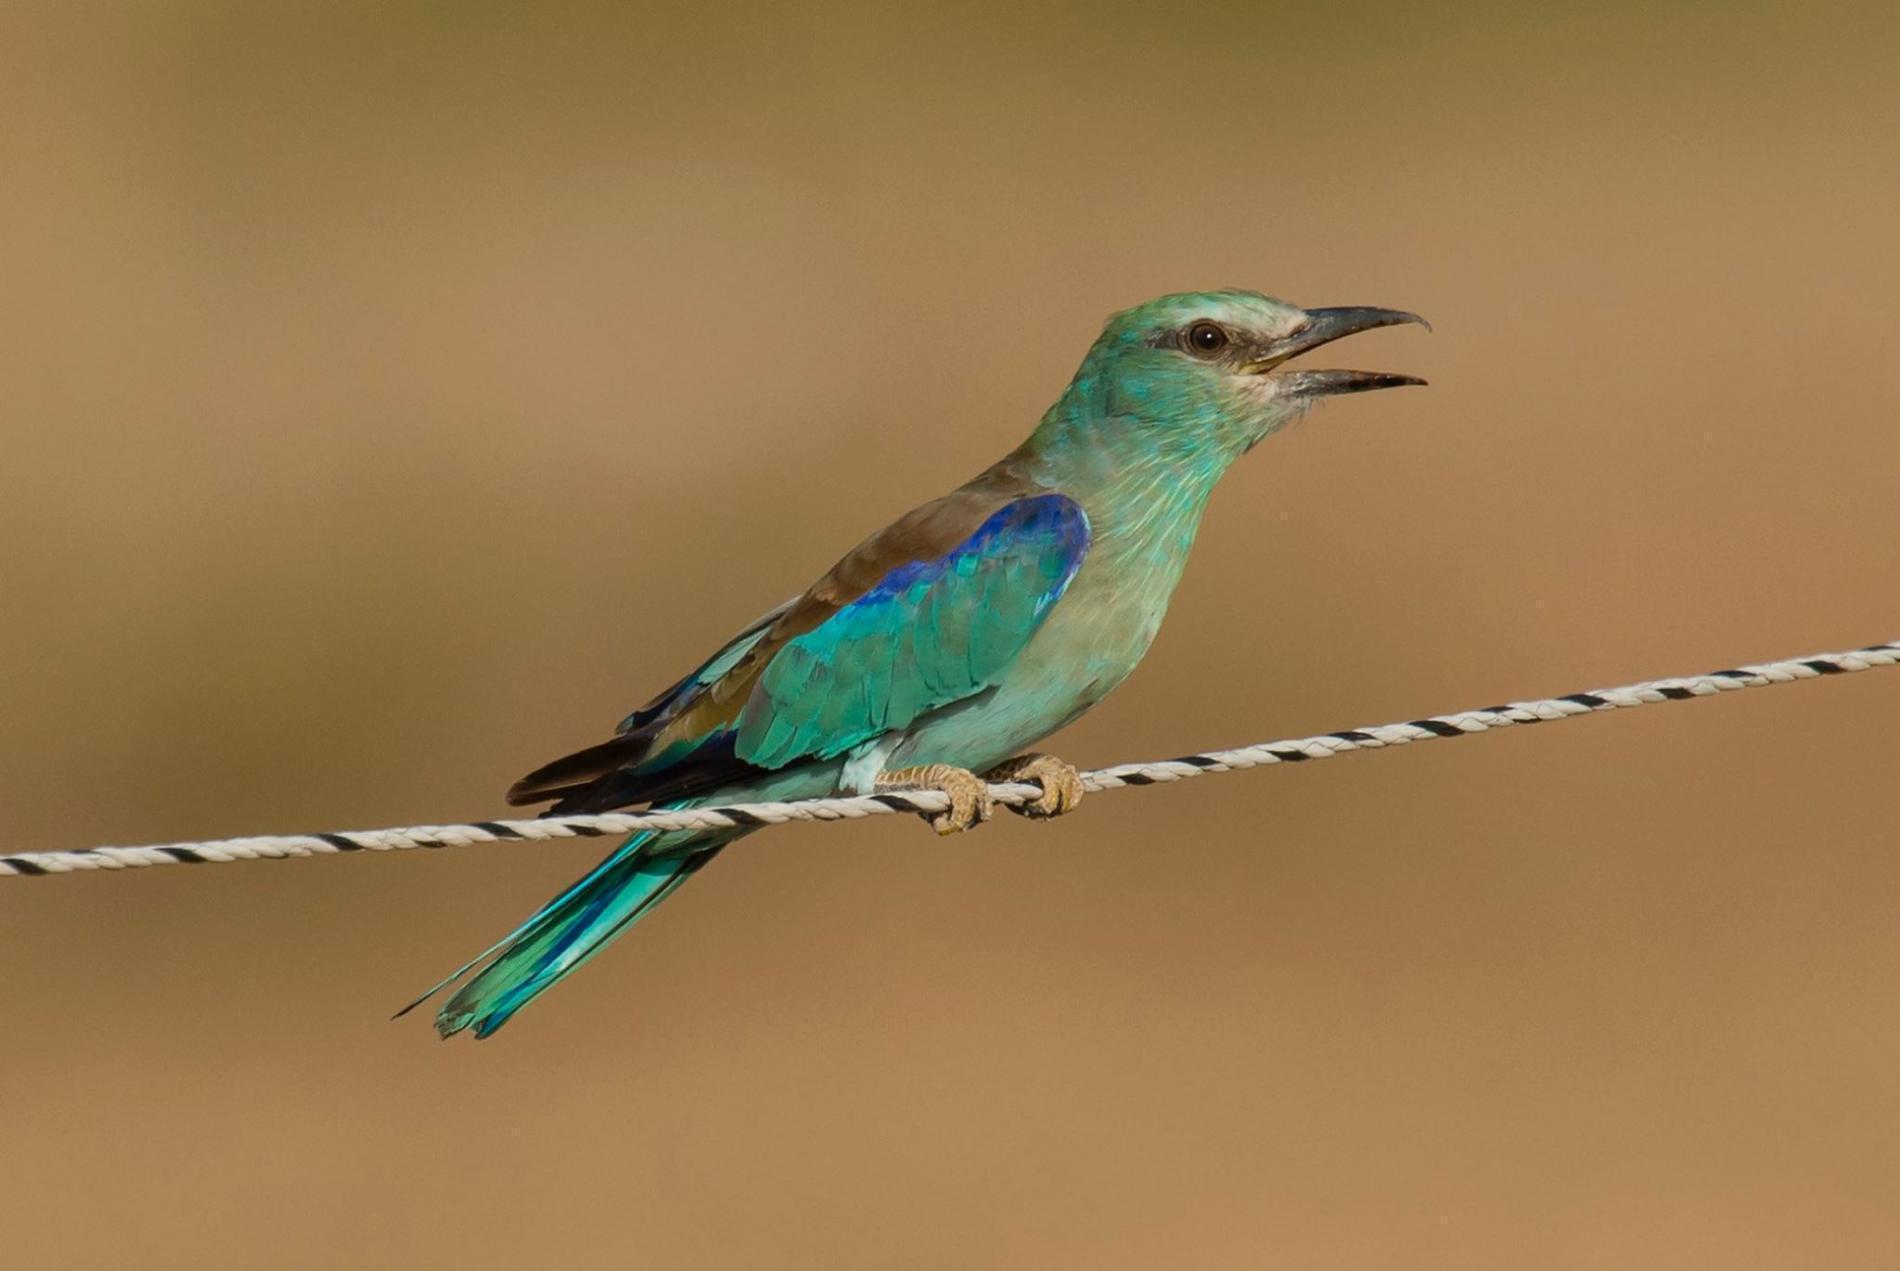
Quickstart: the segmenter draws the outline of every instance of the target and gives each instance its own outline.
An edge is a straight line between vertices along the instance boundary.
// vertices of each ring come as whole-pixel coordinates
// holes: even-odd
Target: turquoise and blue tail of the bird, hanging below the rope
[[[477,1037],[486,1037],[507,1024],[515,1011],[578,971],[614,937],[673,895],[674,887],[712,861],[732,838],[728,832],[635,834],[585,878],[543,904],[534,918],[397,1015],[408,1015],[486,963],[435,1015],[435,1032],[443,1037],[466,1028],[473,1028]]]

